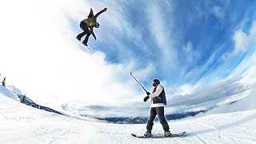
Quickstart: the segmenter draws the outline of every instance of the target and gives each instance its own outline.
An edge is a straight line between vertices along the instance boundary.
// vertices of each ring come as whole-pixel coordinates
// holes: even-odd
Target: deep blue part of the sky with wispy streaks
[[[91,3],[94,13],[102,8],[97,4]],[[151,63],[154,70],[143,81],[145,84],[156,77],[170,86],[194,85],[211,74],[226,78],[246,56],[246,51],[239,51],[223,58],[235,49],[234,33],[248,32],[255,19],[255,7],[250,1],[129,1],[113,5],[118,9],[106,3],[109,11],[98,18],[102,27],[95,31],[100,42],[90,45],[106,53],[110,63],[136,59],[138,68]],[[111,11],[121,15],[120,19],[111,17]],[[113,21],[120,22],[118,27],[109,24]]]

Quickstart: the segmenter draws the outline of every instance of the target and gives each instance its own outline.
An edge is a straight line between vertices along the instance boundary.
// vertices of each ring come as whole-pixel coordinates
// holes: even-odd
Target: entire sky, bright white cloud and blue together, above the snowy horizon
[[[0,7],[0,73],[42,105],[147,114],[130,71],[149,91],[153,78],[161,80],[169,112],[255,86],[254,1],[12,2]],[[70,36],[82,32],[90,7],[94,14],[108,8],[98,17],[97,42],[89,40],[92,52]]]

